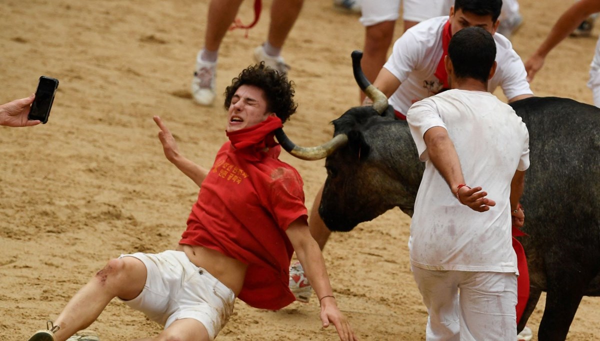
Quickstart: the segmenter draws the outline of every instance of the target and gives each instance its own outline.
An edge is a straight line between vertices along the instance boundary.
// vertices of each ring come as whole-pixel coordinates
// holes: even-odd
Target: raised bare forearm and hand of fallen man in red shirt
[[[175,164],[179,171],[182,171],[193,180],[198,187],[202,186],[202,181],[204,181],[206,175],[208,175],[208,169],[200,167],[198,164],[179,154],[179,148],[177,148],[177,143],[175,142],[175,138],[173,138],[173,134],[169,131],[169,128],[164,125],[163,121],[158,116],[154,116],[154,122],[156,122],[160,128],[158,139],[160,139],[160,142],[163,144],[164,156],[166,156],[167,160],[171,161],[171,163]]]

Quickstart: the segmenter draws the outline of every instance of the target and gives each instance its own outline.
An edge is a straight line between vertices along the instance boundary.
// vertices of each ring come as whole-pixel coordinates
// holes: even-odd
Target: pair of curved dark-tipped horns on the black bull
[[[364,91],[367,97],[373,101],[373,109],[375,109],[379,115],[382,115],[386,112],[386,109],[388,109],[388,98],[367,80],[367,77],[365,77],[365,74],[362,72],[361,59],[362,52],[358,50],[352,52],[352,71],[354,73],[354,78],[362,91]],[[283,128],[275,130],[275,137],[277,137],[278,142],[287,152],[302,160],[309,161],[326,158],[331,155],[335,149],[348,143],[348,136],[346,134],[337,134],[331,140],[320,146],[302,147],[293,143],[292,140],[287,137],[286,133],[284,133]]]

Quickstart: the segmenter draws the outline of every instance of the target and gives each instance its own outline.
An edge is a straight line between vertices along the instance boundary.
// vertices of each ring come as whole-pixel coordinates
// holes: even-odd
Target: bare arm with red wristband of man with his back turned
[[[463,170],[460,167],[460,160],[454,148],[454,143],[448,136],[448,131],[443,127],[432,127],[425,131],[425,145],[429,158],[440,175],[446,180],[452,193],[457,196],[463,205],[479,212],[490,210],[491,206],[496,205],[491,199],[485,198],[487,192],[482,192],[481,187],[467,186],[458,188],[458,185],[464,184]]]

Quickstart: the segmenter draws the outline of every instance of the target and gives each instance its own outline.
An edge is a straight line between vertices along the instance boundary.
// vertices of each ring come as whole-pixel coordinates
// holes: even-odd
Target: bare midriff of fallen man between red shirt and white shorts
[[[238,296],[244,285],[248,265],[217,250],[203,246],[179,244],[177,250],[185,252],[196,267],[203,268]]]

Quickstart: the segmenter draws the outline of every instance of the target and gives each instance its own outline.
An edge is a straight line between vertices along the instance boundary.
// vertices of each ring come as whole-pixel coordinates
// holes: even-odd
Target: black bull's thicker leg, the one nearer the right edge
[[[539,340],[564,341],[583,297],[585,279],[581,277],[584,276],[571,273],[557,275],[562,279],[548,276],[546,306],[538,330]]]

